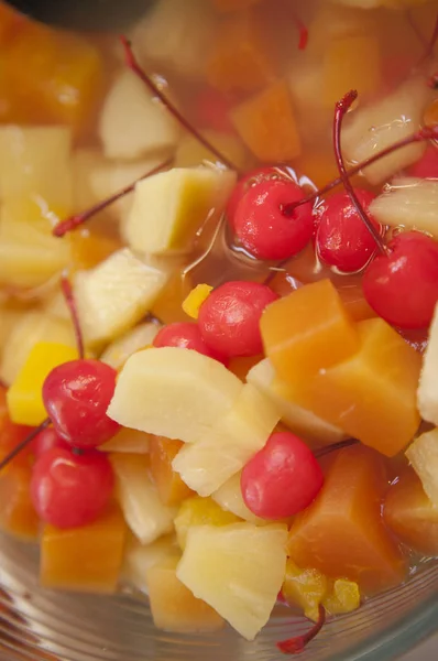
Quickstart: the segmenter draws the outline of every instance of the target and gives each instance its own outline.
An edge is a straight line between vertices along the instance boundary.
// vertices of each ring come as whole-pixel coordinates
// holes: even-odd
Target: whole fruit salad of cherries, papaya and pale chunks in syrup
[[[438,556],[434,0],[0,4],[0,530],[157,628],[309,631]]]

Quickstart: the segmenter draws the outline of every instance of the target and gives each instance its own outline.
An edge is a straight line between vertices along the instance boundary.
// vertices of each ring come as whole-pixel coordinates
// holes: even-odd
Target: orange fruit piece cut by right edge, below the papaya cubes
[[[425,555],[438,554],[438,508],[413,470],[402,474],[390,488],[383,516],[390,530],[410,549]]]

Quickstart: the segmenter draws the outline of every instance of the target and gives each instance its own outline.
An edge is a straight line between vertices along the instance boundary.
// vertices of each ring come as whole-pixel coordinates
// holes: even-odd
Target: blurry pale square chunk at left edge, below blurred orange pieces
[[[0,127],[0,197],[40,196],[69,213],[72,131],[64,127]]]

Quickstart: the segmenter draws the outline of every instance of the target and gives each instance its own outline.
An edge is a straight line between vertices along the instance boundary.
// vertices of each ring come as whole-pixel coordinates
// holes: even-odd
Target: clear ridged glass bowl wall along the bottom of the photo
[[[308,620],[276,607],[254,642],[231,629],[180,636],[155,629],[147,599],[129,594],[84,596],[42,589],[37,550],[0,535],[0,659],[46,661],[275,661],[275,642],[303,633]],[[438,561],[360,610],[329,621],[303,661],[386,661],[438,628]]]

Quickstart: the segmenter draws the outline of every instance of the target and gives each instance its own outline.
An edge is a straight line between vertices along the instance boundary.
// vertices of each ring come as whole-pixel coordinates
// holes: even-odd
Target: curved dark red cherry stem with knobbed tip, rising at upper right
[[[341,147],[342,121],[357,98],[358,98],[357,90],[351,89],[335,106],[333,148],[335,148],[336,161],[337,161],[339,173],[342,178],[342,184],[343,184],[348,195],[350,196],[351,202],[355,206],[357,212],[358,212],[359,216],[361,217],[361,220],[364,223],[366,229],[373,237],[379,250],[382,252],[382,254],[386,254],[386,247],[382,240],[382,237],[379,234],[379,230],[374,227],[374,225],[371,221],[370,216],[366,214],[365,209],[359,202],[359,198],[354,192],[354,188],[351,185],[351,182],[347,176],[346,163],[344,163],[343,156],[342,156],[342,147]]]

